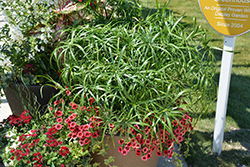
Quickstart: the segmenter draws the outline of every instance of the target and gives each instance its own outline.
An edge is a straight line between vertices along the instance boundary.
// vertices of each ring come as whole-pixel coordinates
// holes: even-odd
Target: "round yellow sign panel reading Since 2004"
[[[208,24],[220,34],[237,36],[250,30],[250,0],[198,0]]]

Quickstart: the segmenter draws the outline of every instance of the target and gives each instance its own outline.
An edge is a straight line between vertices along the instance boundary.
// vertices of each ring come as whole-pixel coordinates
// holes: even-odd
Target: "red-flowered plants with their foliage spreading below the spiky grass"
[[[164,127],[167,121],[164,119],[157,125],[157,133],[152,133],[156,113],[148,112],[141,121],[124,126],[116,119],[107,120],[94,98],[88,101],[88,105],[80,106],[56,100],[49,107],[50,112],[43,116],[45,121],[34,121],[28,111],[20,117],[10,116],[5,133],[9,143],[2,155],[5,165],[88,166],[91,155],[102,152],[101,143],[107,134],[120,135],[115,145],[124,156],[133,150],[135,156],[146,161],[157,150],[158,156],[172,158],[174,143],[181,143],[183,135],[193,129],[192,118],[187,113],[173,120],[171,129],[175,137]]]

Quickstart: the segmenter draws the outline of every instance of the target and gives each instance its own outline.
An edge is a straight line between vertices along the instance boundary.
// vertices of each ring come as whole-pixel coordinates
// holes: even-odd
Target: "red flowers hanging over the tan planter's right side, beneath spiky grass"
[[[148,123],[148,119],[145,119],[145,123]],[[173,131],[175,138],[177,139],[178,143],[181,143],[183,140],[183,135],[188,131],[188,128],[192,131],[192,118],[185,113],[183,115],[182,120],[174,120],[173,121]],[[151,123],[149,123],[151,125]],[[134,125],[135,129],[138,131],[141,131],[142,127],[139,127],[138,125]],[[135,138],[131,138],[130,141],[124,142],[124,139],[120,139],[118,143],[122,145],[118,148],[118,151],[122,155],[127,155],[127,153],[133,149],[135,151],[135,154],[137,156],[141,156],[141,159],[143,161],[146,161],[151,158],[152,152],[156,149],[156,154],[158,156],[164,156],[165,158],[172,158],[173,155],[173,149],[174,149],[174,142],[176,142],[175,138],[172,138],[170,133],[165,129],[163,129],[163,126],[159,124],[159,133],[157,133],[157,138],[152,138],[149,134],[150,127],[145,126],[145,137],[141,133],[137,133],[133,128],[130,128],[130,133],[132,133]],[[143,132],[143,131],[142,131]],[[160,143],[166,143],[167,147],[160,147]]]

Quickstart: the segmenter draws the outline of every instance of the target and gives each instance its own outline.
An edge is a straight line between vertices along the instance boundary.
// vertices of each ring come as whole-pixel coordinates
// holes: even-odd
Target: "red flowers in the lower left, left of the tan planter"
[[[89,102],[93,104],[95,100],[91,98]],[[64,100],[60,99],[55,101],[54,105],[59,105],[62,103],[64,103]],[[78,105],[72,102],[70,103],[70,106],[73,110],[78,108]],[[90,106],[90,107],[83,106],[81,107],[81,109],[87,111],[94,109],[96,113],[99,112],[98,107],[96,106]],[[20,161],[24,157],[26,157],[26,159],[27,158],[29,159],[29,160],[24,160],[27,164],[32,164],[37,167],[43,166],[43,164],[46,163],[43,162],[44,154],[37,151],[37,147],[40,147],[41,145],[48,147],[46,148],[48,150],[58,151],[59,155],[63,157],[67,156],[68,154],[70,154],[70,149],[66,145],[62,146],[63,142],[60,141],[60,139],[58,139],[58,132],[61,130],[64,131],[65,128],[70,130],[68,139],[71,138],[77,139],[79,141],[79,145],[81,146],[83,145],[85,146],[87,145],[87,147],[90,146],[89,143],[91,139],[97,138],[100,135],[98,126],[102,125],[101,122],[102,120],[97,119],[96,117],[93,116],[89,120],[87,120],[88,121],[87,123],[85,122],[84,124],[80,125],[76,123],[76,118],[77,118],[76,113],[72,113],[71,111],[64,113],[65,111],[62,110],[61,107],[51,107],[50,110],[55,111],[54,119],[56,120],[57,124],[52,125],[52,127],[48,129],[45,128],[45,126],[43,126],[41,129],[31,130],[29,133],[22,134],[19,137],[20,144],[18,145],[18,147],[16,149],[12,148],[10,150],[10,153],[12,154],[11,155],[12,160],[16,159],[17,161]],[[71,114],[68,115],[69,113]],[[22,123],[29,123],[31,119],[32,117],[29,115],[29,112],[24,111],[20,117],[15,115],[9,117],[9,122],[13,125],[18,124],[21,126]],[[63,129],[63,127],[65,128]],[[47,139],[45,139],[46,140],[45,144],[44,140],[42,140],[43,143],[41,143],[38,133],[39,134],[44,133],[47,136]],[[64,165],[62,164],[61,166]]]

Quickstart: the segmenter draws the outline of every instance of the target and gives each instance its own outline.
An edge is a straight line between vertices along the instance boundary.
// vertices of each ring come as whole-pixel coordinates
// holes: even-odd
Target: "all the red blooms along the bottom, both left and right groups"
[[[54,105],[59,105],[62,103],[64,103],[64,100],[60,99],[55,101]],[[55,124],[48,129],[43,126],[43,128],[39,130],[31,130],[29,133],[21,135],[19,137],[19,146],[16,149],[12,148],[10,151],[12,154],[11,159],[14,160],[16,158],[17,161],[20,161],[25,156],[29,156],[30,161],[27,161],[28,164],[32,163],[34,166],[43,166],[43,155],[36,149],[38,144],[44,145],[48,150],[58,151],[59,155],[63,157],[70,155],[70,149],[67,147],[67,143],[63,145],[63,141],[60,141],[61,139],[58,138],[58,132],[65,133],[65,130],[69,130],[69,133],[68,138],[64,139],[64,141],[73,139],[76,140],[80,146],[85,146],[85,148],[88,149],[92,144],[91,142],[100,136],[100,126],[103,125],[103,120],[98,118],[99,108],[98,106],[95,106],[94,103],[95,99],[90,98],[89,107],[79,107],[73,102],[69,104],[72,111],[76,109],[80,109],[82,111],[86,110],[87,113],[91,111],[90,115],[94,115],[90,118],[86,117],[89,119],[84,120],[84,123],[82,124],[79,123],[79,119],[77,118],[81,117],[81,114],[83,113],[79,112],[78,115],[72,111],[67,112],[60,106],[51,107],[50,110],[54,110],[54,115],[52,118],[55,119]],[[118,141],[118,143],[121,145],[118,148],[118,151],[122,155],[126,155],[130,150],[134,150],[137,156],[141,157],[143,161],[146,161],[151,158],[152,152],[156,151],[158,156],[171,158],[173,155],[174,143],[181,143],[183,141],[184,134],[188,130],[193,130],[192,118],[187,113],[185,113],[181,120],[176,119],[172,122],[174,137],[166,128],[164,128],[163,124],[161,123],[157,125],[157,128],[159,128],[157,135],[151,136],[150,128],[152,126],[152,122],[150,120],[154,119],[154,117],[154,114],[152,114],[149,115],[148,118],[142,120],[142,122],[145,124],[144,126],[136,124],[134,127],[130,127],[129,129],[121,128],[119,130],[121,133],[127,131],[129,134],[131,134],[130,136],[133,136],[128,140],[120,139]],[[12,125],[18,124],[19,126],[21,126],[23,123],[29,123],[30,120],[31,116],[29,115],[28,111],[24,111],[20,117],[13,115],[9,118],[9,121]],[[166,120],[162,119],[162,121]],[[113,131],[114,128],[115,125],[109,123],[109,130]],[[40,138],[37,134],[41,134],[44,131],[44,134],[47,135],[45,144],[40,143]],[[161,143],[166,145],[166,147],[161,147]],[[62,164],[61,166],[64,165]]]

